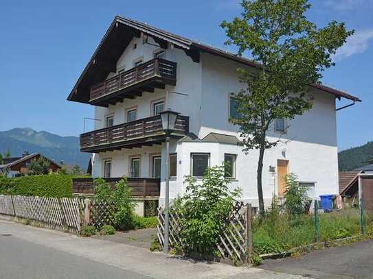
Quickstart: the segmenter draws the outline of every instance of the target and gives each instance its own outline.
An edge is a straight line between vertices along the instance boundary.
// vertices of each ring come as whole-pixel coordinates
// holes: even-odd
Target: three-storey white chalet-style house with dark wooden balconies
[[[237,69],[257,66],[116,16],[67,98],[95,106],[95,130],[80,135],[80,150],[93,153],[93,177],[128,175],[136,195],[159,195],[163,203],[166,151],[159,112],[170,108],[180,113],[170,143],[170,197],[185,192],[185,175],[200,181],[207,167],[230,162],[231,187],[242,188],[242,199],[258,206],[258,151],[242,152],[238,127],[229,121],[237,116],[231,93],[242,88]],[[274,194],[284,195],[282,177],[289,172],[310,195],[339,193],[335,100],[360,100],[319,84],[310,85],[310,94],[315,98],[310,111],[292,121],[278,119],[268,132],[286,143],[264,156],[266,205]]]

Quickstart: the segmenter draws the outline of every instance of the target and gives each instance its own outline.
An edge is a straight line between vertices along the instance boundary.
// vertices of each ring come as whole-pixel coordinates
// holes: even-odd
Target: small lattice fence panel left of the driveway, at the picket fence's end
[[[91,225],[101,228],[103,225],[114,225],[114,207],[109,202],[92,202]]]

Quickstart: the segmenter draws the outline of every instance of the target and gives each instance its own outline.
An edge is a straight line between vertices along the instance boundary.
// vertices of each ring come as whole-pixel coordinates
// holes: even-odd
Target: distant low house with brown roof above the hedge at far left
[[[14,178],[17,175],[27,174],[27,165],[32,160],[38,160],[40,153],[23,154],[22,157],[3,158],[3,165],[0,165],[0,173],[7,175],[9,178]],[[43,156],[49,162],[49,171],[56,172],[61,168],[61,165],[49,158]]]

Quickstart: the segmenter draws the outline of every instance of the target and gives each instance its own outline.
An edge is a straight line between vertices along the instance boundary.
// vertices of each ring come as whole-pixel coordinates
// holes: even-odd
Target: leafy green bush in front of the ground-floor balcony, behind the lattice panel
[[[102,178],[94,180],[95,199],[112,204],[114,209],[114,226],[117,230],[131,230],[136,203],[131,196],[131,188],[127,186],[127,178],[115,184],[115,188]]]

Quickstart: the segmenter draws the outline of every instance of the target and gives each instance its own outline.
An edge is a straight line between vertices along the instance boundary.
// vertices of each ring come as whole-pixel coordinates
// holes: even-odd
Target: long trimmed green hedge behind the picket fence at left
[[[19,178],[0,178],[0,194],[39,197],[71,197],[72,175],[50,173]]]

